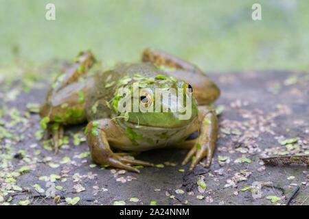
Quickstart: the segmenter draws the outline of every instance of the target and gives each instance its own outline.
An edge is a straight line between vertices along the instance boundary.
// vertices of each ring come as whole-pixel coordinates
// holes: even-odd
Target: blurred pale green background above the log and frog
[[[56,5],[56,21],[45,5]],[[262,5],[262,21],[251,5]],[[150,47],[203,70],[308,70],[309,1],[0,0],[0,66],[73,60],[136,62]]]

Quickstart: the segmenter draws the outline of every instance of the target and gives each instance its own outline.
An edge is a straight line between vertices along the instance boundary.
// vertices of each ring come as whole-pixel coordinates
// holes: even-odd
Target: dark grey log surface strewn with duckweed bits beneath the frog
[[[35,138],[41,129],[38,114],[28,118],[25,114],[27,103],[43,103],[49,85],[21,92],[14,101],[5,101],[8,93],[2,93],[0,203],[18,205],[29,200],[32,205],[56,205],[54,198],[46,197],[55,185],[58,205],[67,205],[65,198],[74,197],[80,198],[77,205],[113,205],[115,201],[126,205],[149,205],[151,201],[158,205],[276,205],[284,204],[299,186],[290,205],[308,205],[308,167],[268,166],[260,159],[308,155],[308,73],[252,71],[210,77],[222,90],[214,103],[224,107],[219,139],[211,168],[199,164],[192,172],[189,165],[180,166],[187,151],[176,149],[137,155],[136,159],[164,166],[141,168],[141,174],[95,166],[83,139],[85,125],[67,127],[69,143],[55,155],[43,146],[43,140]],[[293,143],[280,144],[294,138]],[[18,176],[14,172],[19,170],[23,174]],[[55,175],[60,179],[54,179]],[[199,179],[207,188],[198,187]],[[272,203],[276,198],[270,196],[278,197],[277,202]],[[133,197],[139,201],[130,202]]]

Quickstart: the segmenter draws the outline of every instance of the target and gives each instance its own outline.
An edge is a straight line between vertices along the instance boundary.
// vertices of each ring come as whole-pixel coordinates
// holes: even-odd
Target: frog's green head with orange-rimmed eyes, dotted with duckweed
[[[144,77],[137,74],[133,78],[124,77],[121,81],[129,81],[124,86],[127,93],[116,96],[112,105],[115,112],[120,114],[118,118],[127,125],[181,128],[198,116],[192,86],[185,81],[166,75]],[[119,105],[125,108],[122,108],[121,113]]]

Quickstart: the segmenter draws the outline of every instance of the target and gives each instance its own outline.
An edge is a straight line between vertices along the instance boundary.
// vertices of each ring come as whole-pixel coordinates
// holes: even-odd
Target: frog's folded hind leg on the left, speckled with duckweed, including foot
[[[87,95],[89,81],[80,82],[80,76],[91,68],[94,57],[91,52],[80,53],[71,66],[65,68],[54,81],[41,106],[40,115],[47,119],[45,139],[52,136],[55,152],[62,145],[64,125],[82,123],[84,115],[84,99]]]

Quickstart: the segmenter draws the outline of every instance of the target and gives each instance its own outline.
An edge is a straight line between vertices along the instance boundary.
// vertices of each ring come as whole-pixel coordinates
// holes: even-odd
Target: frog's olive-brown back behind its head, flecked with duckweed
[[[119,80],[127,76],[133,78],[136,74],[144,77],[165,75],[151,63],[120,64],[114,70],[94,75],[95,84],[86,101],[87,120],[111,118],[113,112],[110,103],[116,96]]]

